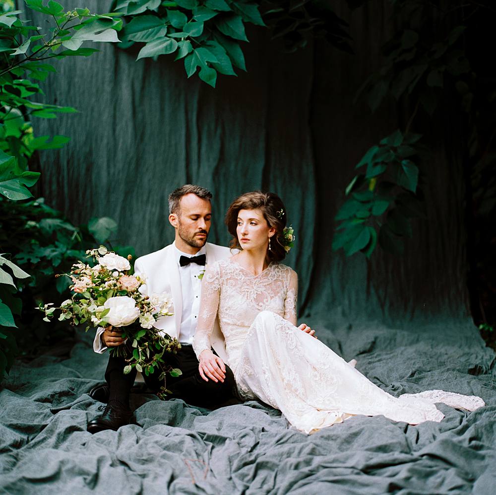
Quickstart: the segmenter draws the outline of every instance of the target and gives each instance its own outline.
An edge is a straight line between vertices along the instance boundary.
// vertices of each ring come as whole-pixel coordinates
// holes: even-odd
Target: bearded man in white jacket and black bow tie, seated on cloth
[[[173,244],[160,251],[138,258],[134,264],[135,275],[145,277],[147,294],[167,292],[172,295],[174,316],[162,318],[155,325],[160,330],[176,337],[181,343],[177,354],[169,354],[166,364],[180,368],[179,377],[167,376],[167,389],[172,397],[183,399],[188,404],[213,407],[232,399],[235,382],[227,366],[212,367],[203,380],[198,372],[198,361],[192,349],[193,336],[200,308],[201,277],[206,263],[231,256],[227,247],[207,243],[211,225],[212,194],[200,186],[186,184],[169,196],[169,222],[176,230]],[[99,328],[93,344],[94,351],[104,353],[124,344],[120,328]],[[216,322],[212,347],[225,360],[224,339]],[[124,357],[109,355],[105,372],[106,385],[95,387],[90,396],[102,398],[108,392],[108,404],[102,415],[88,423],[88,431],[96,433],[104,429],[117,430],[128,424],[131,418],[129,392],[136,377],[136,370],[124,375]],[[164,385],[158,379],[160,373],[144,377],[147,385],[159,391]]]

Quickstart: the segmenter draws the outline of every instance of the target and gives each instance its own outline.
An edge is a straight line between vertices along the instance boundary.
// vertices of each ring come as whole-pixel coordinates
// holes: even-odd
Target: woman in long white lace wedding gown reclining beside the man
[[[210,348],[216,316],[240,395],[279,409],[295,428],[311,433],[354,415],[383,415],[419,424],[444,417],[434,403],[473,411],[479,397],[442,390],[393,397],[296,326],[298,276],[280,264],[286,255],[286,210],[273,193],[237,198],[226,214],[232,246],[240,252],[209,265],[193,341],[202,378],[224,377],[225,364]]]

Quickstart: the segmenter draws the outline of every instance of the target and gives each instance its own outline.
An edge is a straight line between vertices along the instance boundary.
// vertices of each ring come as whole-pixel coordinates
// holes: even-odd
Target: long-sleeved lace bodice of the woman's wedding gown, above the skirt
[[[210,349],[218,315],[228,364],[234,371],[256,315],[269,310],[296,325],[297,295],[298,276],[285,265],[271,263],[256,276],[231,258],[209,265],[201,281],[201,306],[193,340],[196,356]]]

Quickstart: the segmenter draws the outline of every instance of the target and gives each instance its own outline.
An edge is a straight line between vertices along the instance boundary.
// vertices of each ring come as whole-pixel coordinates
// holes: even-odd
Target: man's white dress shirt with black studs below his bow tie
[[[205,267],[190,263],[182,267],[179,264],[181,256],[192,258],[206,253],[206,248],[203,246],[196,254],[183,253],[176,247],[176,263],[178,264],[179,274],[181,277],[181,292],[183,294],[183,313],[181,318],[181,332],[179,334],[179,342],[185,345],[193,343],[194,332],[196,331],[196,323],[198,322],[198,313],[200,311],[200,292],[201,279],[198,276],[204,272]]]

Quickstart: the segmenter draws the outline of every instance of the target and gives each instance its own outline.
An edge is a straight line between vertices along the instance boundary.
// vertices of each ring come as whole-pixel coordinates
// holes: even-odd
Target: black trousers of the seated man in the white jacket
[[[220,381],[215,383],[211,379],[206,382],[201,378],[198,371],[198,360],[192,346],[181,345],[181,349],[177,354],[164,354],[164,360],[167,365],[173,368],[179,368],[183,373],[178,377],[172,377],[166,374],[167,389],[172,392],[172,396],[169,397],[183,399],[187,404],[200,407],[214,407],[233,398],[236,385],[231,369],[226,366],[224,383]],[[105,379],[111,389],[111,396],[113,385],[115,385],[113,381],[121,381],[119,389],[123,390],[123,392],[123,382],[125,382],[124,388],[126,391],[130,390],[134,383],[136,370],[133,368],[129,374],[124,375],[123,370],[126,364],[123,356],[109,355]],[[143,373],[146,385],[154,392],[159,392],[164,385],[164,380],[160,380],[159,376],[160,371],[157,369],[148,376]],[[127,397],[123,397],[119,402],[126,404],[128,402],[128,394],[123,395],[127,395]]]

